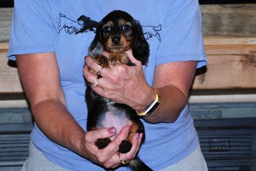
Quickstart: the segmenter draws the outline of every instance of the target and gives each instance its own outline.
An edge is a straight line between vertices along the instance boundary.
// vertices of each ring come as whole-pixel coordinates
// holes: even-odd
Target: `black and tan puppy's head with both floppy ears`
[[[149,46],[140,23],[121,10],[110,12],[100,21],[90,51],[99,45],[110,53],[132,49],[133,56],[142,64],[148,61]]]

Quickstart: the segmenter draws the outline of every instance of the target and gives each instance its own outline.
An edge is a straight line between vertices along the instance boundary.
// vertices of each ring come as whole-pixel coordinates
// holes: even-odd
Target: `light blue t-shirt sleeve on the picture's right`
[[[164,26],[156,64],[172,61],[197,61],[206,65],[202,18],[197,0],[172,1]]]

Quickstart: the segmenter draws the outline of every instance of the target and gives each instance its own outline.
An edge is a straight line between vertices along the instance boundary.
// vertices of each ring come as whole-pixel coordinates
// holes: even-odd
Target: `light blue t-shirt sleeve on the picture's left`
[[[54,51],[56,24],[47,1],[15,0],[7,57]]]

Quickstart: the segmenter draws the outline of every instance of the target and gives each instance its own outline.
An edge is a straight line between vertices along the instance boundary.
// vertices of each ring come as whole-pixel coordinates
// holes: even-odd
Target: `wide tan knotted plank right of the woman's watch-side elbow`
[[[206,45],[208,66],[193,90],[256,88],[256,45]]]

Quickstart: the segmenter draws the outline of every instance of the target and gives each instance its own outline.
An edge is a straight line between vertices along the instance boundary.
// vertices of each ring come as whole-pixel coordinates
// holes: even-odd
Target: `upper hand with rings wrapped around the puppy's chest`
[[[108,56],[108,53],[104,55]],[[154,90],[146,83],[141,62],[132,56],[132,50],[128,50],[127,55],[135,66],[116,64],[102,69],[91,56],[87,56],[83,74],[86,80],[94,83],[98,77],[96,73],[101,70],[102,77],[99,78],[97,86],[91,86],[93,91],[114,102],[141,110],[154,99]]]

